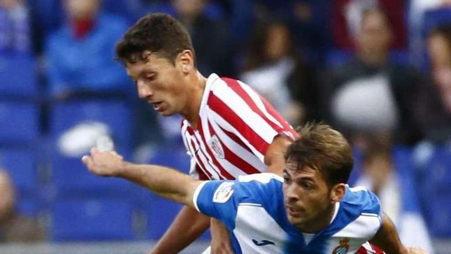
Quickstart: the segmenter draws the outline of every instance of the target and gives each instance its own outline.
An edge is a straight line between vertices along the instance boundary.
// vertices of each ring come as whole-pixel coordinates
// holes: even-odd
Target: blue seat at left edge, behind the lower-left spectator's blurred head
[[[27,216],[36,216],[43,208],[36,164],[32,151],[0,149],[0,168],[10,174],[16,188],[18,212]]]

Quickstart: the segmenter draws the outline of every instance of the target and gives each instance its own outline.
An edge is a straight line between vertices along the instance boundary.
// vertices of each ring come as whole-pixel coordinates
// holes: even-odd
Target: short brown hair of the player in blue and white
[[[350,144],[343,134],[323,123],[307,123],[297,129],[299,138],[285,152],[285,161],[319,170],[327,185],[347,183],[354,165]]]

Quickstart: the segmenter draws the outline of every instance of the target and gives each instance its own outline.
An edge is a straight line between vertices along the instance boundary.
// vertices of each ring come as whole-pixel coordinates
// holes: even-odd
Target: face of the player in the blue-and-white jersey
[[[288,220],[301,231],[315,232],[330,222],[330,191],[319,170],[308,166],[298,169],[296,162],[286,162],[283,197]]]

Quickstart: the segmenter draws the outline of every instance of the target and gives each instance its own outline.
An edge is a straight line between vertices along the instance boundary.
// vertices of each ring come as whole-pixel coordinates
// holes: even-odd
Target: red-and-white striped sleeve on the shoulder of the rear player
[[[276,136],[283,135],[290,140],[297,137],[293,127],[272,105],[240,81],[226,78],[215,81],[208,106],[211,119],[233,133],[261,161]]]

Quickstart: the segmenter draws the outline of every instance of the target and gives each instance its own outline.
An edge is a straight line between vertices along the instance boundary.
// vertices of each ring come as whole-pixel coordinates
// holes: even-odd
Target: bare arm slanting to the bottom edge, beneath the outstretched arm
[[[191,207],[183,207],[151,253],[178,253],[194,242],[209,226],[210,217]]]

